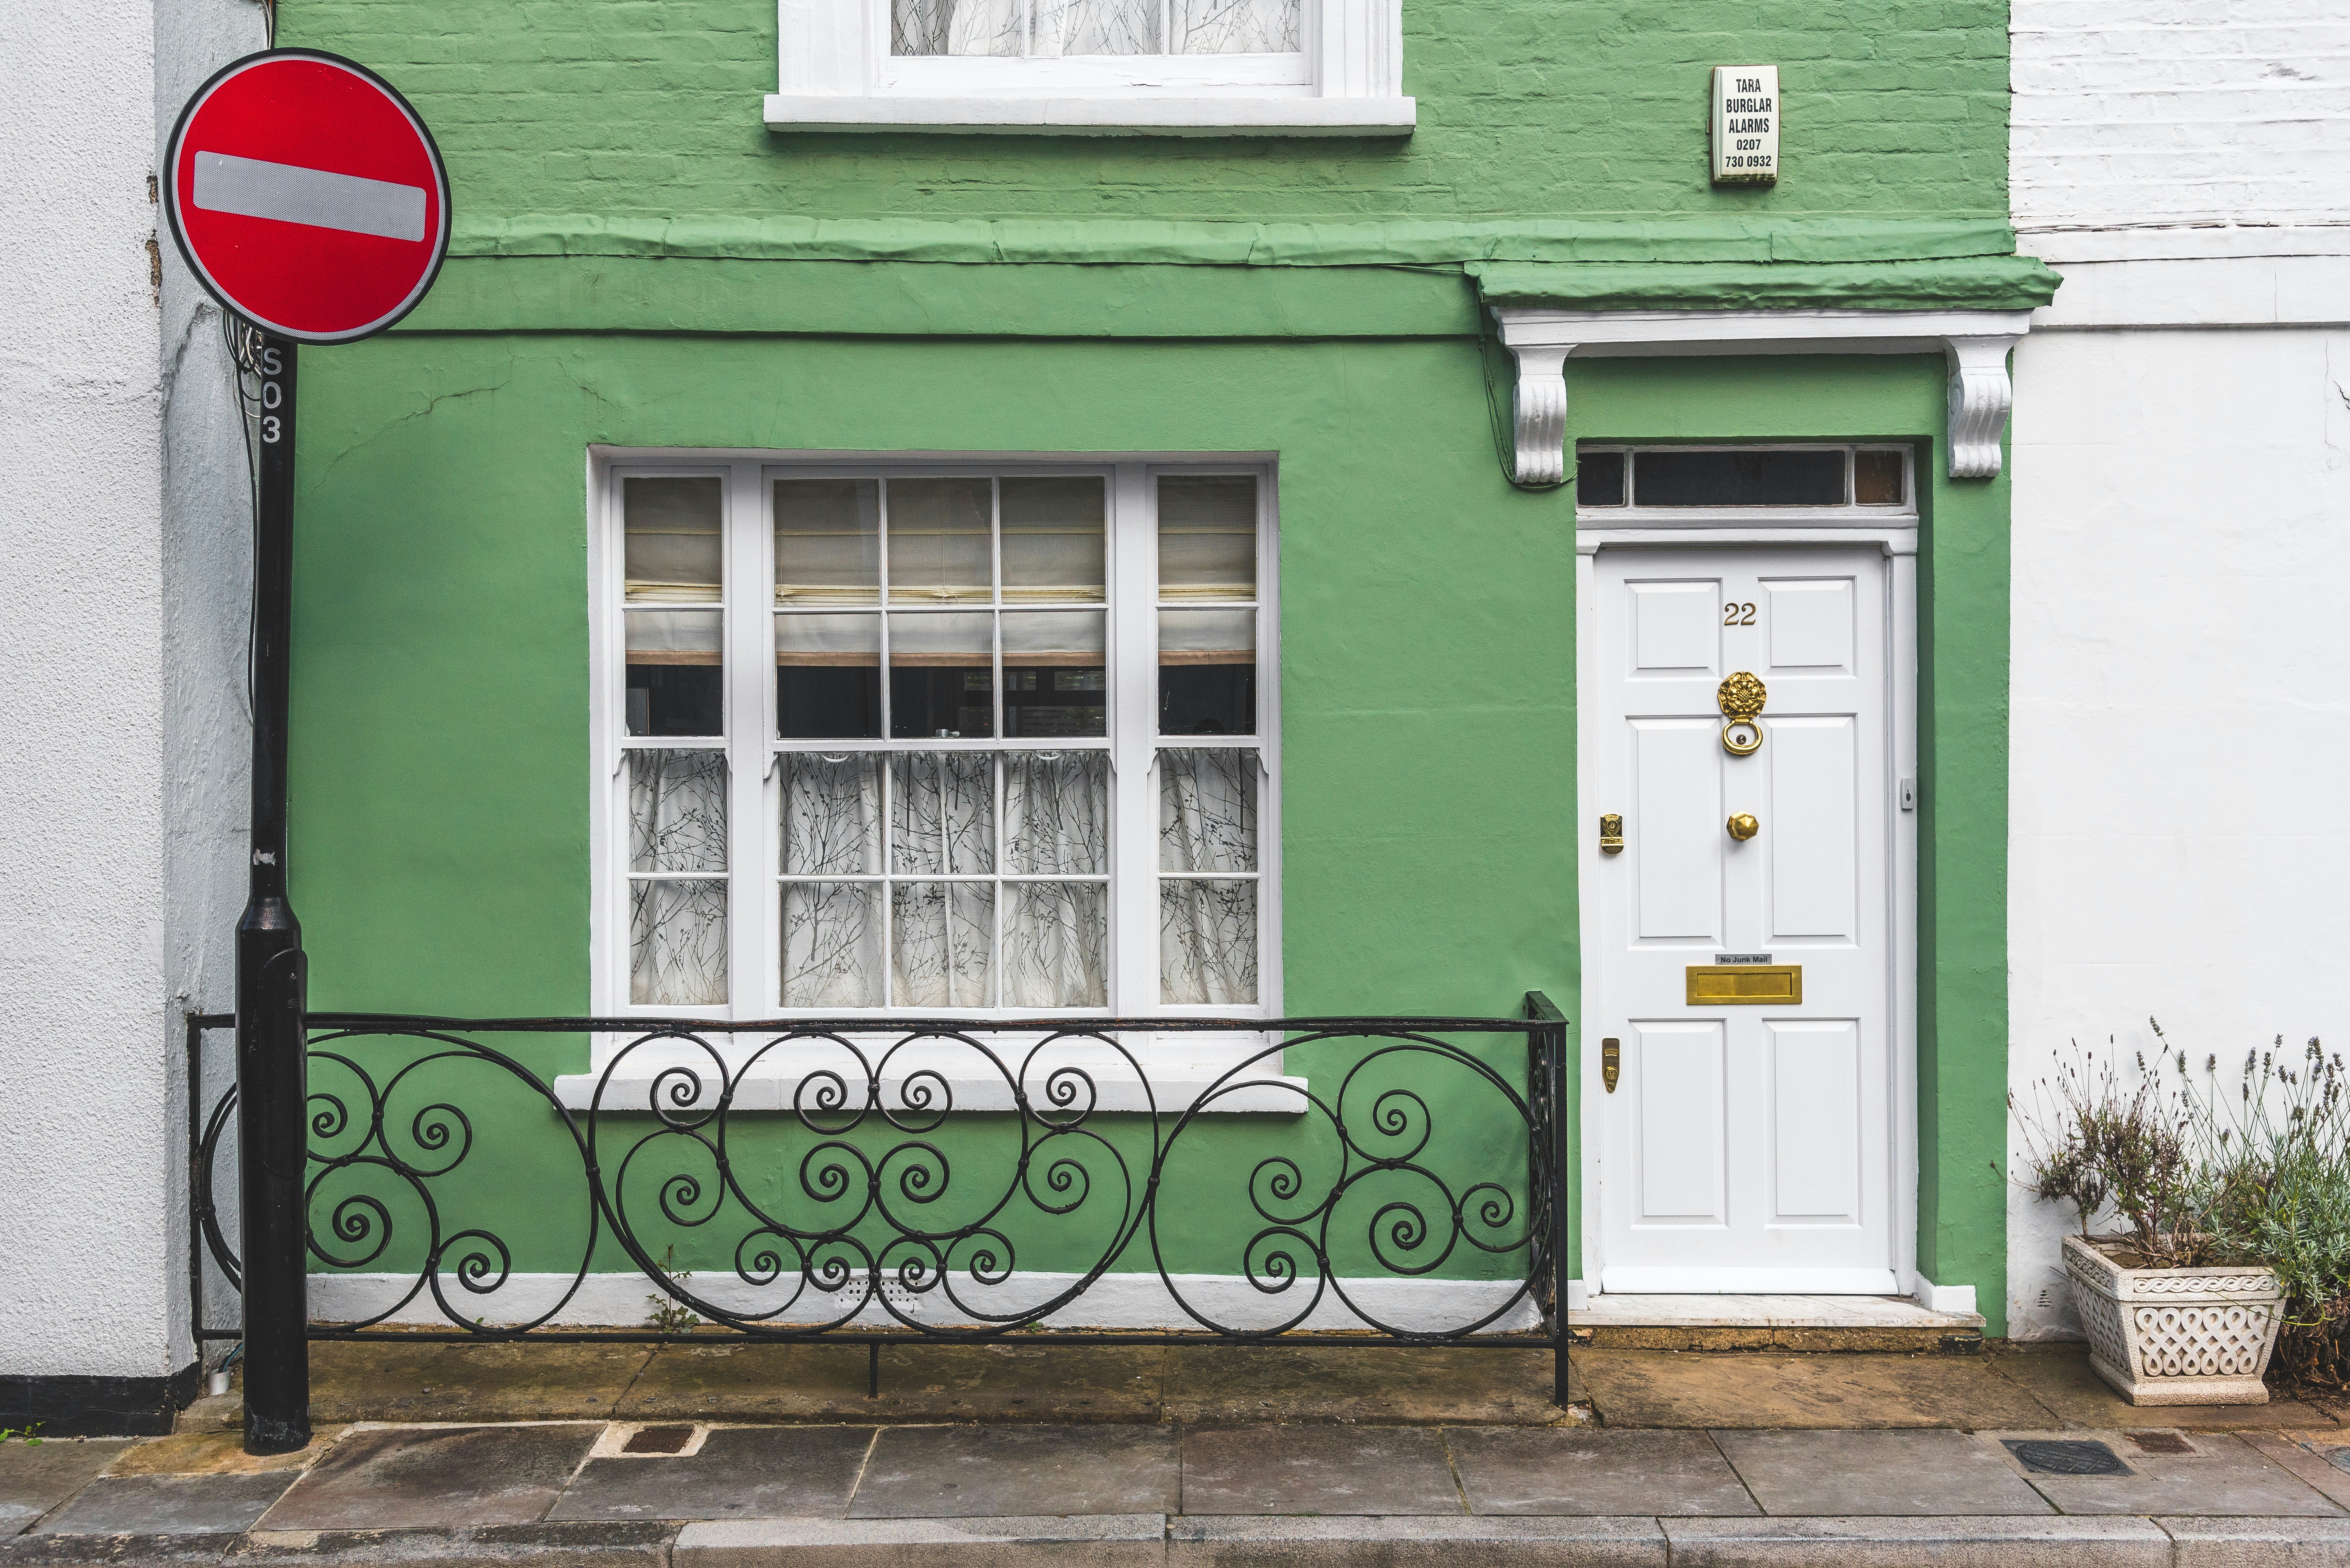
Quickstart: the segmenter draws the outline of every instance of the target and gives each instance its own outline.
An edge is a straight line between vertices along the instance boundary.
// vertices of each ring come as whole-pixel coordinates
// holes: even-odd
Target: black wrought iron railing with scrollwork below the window
[[[1532,1347],[1563,1401],[1565,1019],[1525,1002],[1248,1026],[310,1014],[296,1289],[313,1340]],[[1241,1059],[1170,1073],[1187,1038],[1241,1028]],[[244,1289],[212,1030],[233,1019],[190,1014],[202,1340],[240,1336],[204,1322],[204,1253]]]

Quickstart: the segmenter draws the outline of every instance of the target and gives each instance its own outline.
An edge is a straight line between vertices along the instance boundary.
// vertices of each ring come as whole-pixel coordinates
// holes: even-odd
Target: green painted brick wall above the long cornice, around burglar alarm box
[[[1410,0],[1405,141],[773,136],[773,0],[287,0],[414,96],[458,214],[2007,221],[1998,0]],[[1713,66],[1777,61],[1774,190],[1706,183]]]

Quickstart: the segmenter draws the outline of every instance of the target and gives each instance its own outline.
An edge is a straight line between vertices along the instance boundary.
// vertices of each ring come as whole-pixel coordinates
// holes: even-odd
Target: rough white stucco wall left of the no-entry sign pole
[[[0,7],[0,1373],[193,1359],[179,1016],[233,995],[247,502],[148,174],[258,42],[249,0]]]

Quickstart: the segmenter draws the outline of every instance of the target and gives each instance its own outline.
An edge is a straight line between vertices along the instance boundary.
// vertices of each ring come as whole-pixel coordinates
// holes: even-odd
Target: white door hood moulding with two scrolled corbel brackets
[[[1567,477],[1567,354],[1932,354],[1950,366],[1950,479],[1993,479],[2014,406],[2007,352],[2023,310],[1549,310],[1495,305],[1518,361],[1511,399],[1518,484]]]

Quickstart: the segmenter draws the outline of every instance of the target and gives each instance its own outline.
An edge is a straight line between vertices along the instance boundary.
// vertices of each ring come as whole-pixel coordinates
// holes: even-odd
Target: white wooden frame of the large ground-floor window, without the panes
[[[686,737],[625,732],[625,615],[623,481],[630,477],[719,477],[726,592],[726,737],[728,758],[728,1002],[724,1007],[658,1007],[630,1002],[627,913],[627,751],[696,749]],[[785,477],[1022,477],[1100,474],[1107,481],[1107,685],[1112,735],[1043,742],[1050,749],[1112,753],[1112,918],[1109,1005],[1053,1016],[1229,1016],[1236,1023],[1281,1016],[1281,613],[1278,613],[1278,474],[1271,458],[1215,455],[837,455],[771,451],[616,451],[590,453],[588,577],[590,577],[590,988],[604,1019],[813,1019],[870,1016],[881,1035],[895,1019],[952,1016],[971,1021],[1034,1019],[1036,1007],[961,1009],[785,1009],[780,965],[778,817],[783,777],[776,758],[787,751],[1018,751],[1036,742],[992,739],[780,739],[776,735],[773,620],[761,599],[773,584],[773,486]],[[1253,749],[1257,768],[1257,1002],[1184,1007],[1161,1002],[1159,984],[1159,753],[1198,744],[1159,735],[1159,540],[1156,479],[1161,474],[1253,474],[1257,479],[1257,732],[1220,735],[1215,749]],[[712,608],[712,606],[698,606]],[[844,606],[827,606],[839,610]],[[884,606],[874,606],[877,613]],[[884,683],[888,674],[884,669]],[[1001,671],[996,704],[1003,702]],[[999,725],[1001,728],[1001,725]],[[1135,758],[1147,758],[1135,768]],[[1126,763],[1121,768],[1121,761]],[[1220,878],[1227,880],[1227,878]],[[1234,878],[1236,880],[1236,878]],[[1001,974],[1001,967],[999,967]],[[1161,1056],[1224,1063],[1238,1047],[1262,1047],[1262,1033],[1163,1035]],[[599,1066],[604,1047],[599,1042]],[[1217,1068],[1222,1070],[1222,1068]],[[1274,1068],[1278,1070],[1278,1068]],[[1156,1082],[1156,1077],[1154,1077]],[[583,1101],[585,1103],[585,1101]],[[1297,1106],[1234,1106],[1278,1108]]]

